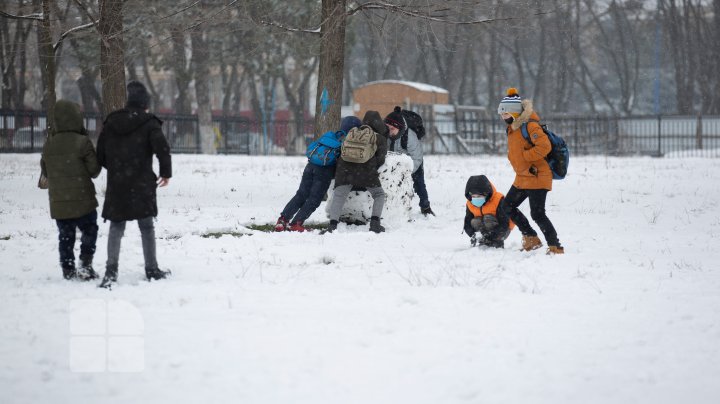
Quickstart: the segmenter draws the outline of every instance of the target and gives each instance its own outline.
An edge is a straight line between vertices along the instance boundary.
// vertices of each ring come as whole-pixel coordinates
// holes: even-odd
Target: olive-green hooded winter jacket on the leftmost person
[[[80,106],[60,100],[55,104],[55,131],[43,145],[40,168],[48,179],[50,217],[76,219],[98,206],[92,178],[100,164],[83,128]]]

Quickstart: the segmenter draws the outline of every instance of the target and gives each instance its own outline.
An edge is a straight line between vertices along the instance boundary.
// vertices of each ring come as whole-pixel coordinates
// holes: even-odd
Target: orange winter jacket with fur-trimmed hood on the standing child
[[[533,111],[532,101],[522,101],[523,112],[508,125],[508,160],[515,170],[513,185],[519,189],[552,190],[552,171],[545,156],[552,144],[540,124],[540,116]],[[527,123],[528,134],[535,144],[531,145],[522,136],[521,126]]]

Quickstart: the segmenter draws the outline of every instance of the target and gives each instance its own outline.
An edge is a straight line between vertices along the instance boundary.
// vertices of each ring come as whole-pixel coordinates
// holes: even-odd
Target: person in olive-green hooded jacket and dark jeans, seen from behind
[[[100,174],[95,148],[83,127],[80,106],[55,103],[55,130],[43,146],[42,175],[48,179],[50,217],[59,232],[60,266],[65,279],[97,278],[92,267],[97,241],[95,185]],[[75,232],[80,229],[80,270],[75,267]]]

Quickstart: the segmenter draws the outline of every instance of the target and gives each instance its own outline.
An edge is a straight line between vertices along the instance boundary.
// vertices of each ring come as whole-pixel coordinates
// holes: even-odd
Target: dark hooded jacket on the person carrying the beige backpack
[[[378,168],[385,164],[387,155],[387,126],[377,111],[368,111],[363,118],[363,125],[370,126],[377,133],[377,151],[364,163],[350,163],[338,159],[335,171],[335,186],[352,185],[354,188],[380,187]]]

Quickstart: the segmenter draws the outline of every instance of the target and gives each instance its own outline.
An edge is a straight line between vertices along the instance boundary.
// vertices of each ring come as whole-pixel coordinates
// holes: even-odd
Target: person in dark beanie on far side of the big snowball
[[[396,151],[406,154],[413,160],[413,189],[415,194],[420,198],[420,212],[427,216],[435,216],[435,212],[430,208],[430,197],[427,193],[425,185],[425,169],[422,143],[420,143],[420,135],[408,125],[406,114],[419,115],[412,111],[405,111],[396,106],[391,113],[385,117],[385,123],[398,129],[396,134],[388,136],[388,151]],[[422,125],[420,125],[422,128]],[[424,131],[424,129],[423,129]]]

